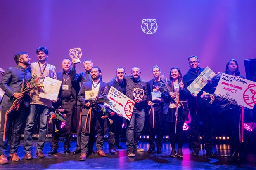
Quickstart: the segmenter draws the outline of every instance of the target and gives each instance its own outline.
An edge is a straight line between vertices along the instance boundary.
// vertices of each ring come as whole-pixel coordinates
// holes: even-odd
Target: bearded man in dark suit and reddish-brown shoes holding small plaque
[[[105,120],[101,117],[102,113],[91,110],[91,105],[88,100],[86,100],[85,91],[96,90],[98,95],[102,95],[107,83],[100,81],[101,70],[99,67],[92,67],[91,69],[92,81],[84,82],[78,94],[78,100],[83,105],[81,112],[81,156],[80,161],[86,160],[86,155],[88,154],[88,144],[91,133],[93,134],[94,123],[96,125],[96,153],[99,156],[106,156],[102,151],[103,141],[104,141],[104,122]],[[86,126],[85,126],[86,124]]]

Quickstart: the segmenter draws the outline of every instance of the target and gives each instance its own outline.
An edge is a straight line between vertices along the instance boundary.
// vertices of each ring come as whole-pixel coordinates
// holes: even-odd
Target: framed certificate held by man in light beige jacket
[[[57,100],[62,81],[45,76],[43,79],[44,88],[40,89],[39,97],[49,100]]]

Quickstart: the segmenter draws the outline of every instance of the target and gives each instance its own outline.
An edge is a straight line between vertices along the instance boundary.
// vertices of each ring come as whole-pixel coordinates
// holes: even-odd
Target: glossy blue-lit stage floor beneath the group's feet
[[[120,144],[126,148],[125,142]],[[52,169],[52,170],[81,170],[81,169],[171,169],[171,170],[235,170],[235,169],[256,169],[256,151],[247,149],[247,154],[243,154],[242,163],[228,163],[228,154],[230,146],[227,144],[213,145],[213,152],[217,154],[215,157],[207,157],[204,150],[200,150],[200,156],[192,156],[192,150],[189,149],[188,143],[183,145],[183,158],[170,158],[171,146],[168,141],[163,143],[163,154],[156,152],[148,153],[149,142],[140,142],[140,147],[144,148],[143,152],[135,152],[134,158],[129,158],[126,154],[126,149],[117,149],[119,154],[112,155],[108,152],[108,143],[104,142],[103,151],[107,157],[100,157],[97,154],[89,155],[86,161],[79,161],[78,155],[73,155],[72,151],[76,149],[76,141],[71,143],[71,154],[64,154],[64,142],[59,142],[59,149],[56,155],[48,156],[50,151],[51,141],[45,142],[43,153],[45,158],[36,158],[36,141],[33,142],[33,159],[24,159],[23,142],[21,142],[18,155],[21,158],[20,162],[12,162],[9,164],[0,165],[1,170],[30,170],[30,169]],[[95,148],[94,148],[95,149]],[[96,149],[95,149],[96,151]],[[226,155],[226,156],[225,156]]]

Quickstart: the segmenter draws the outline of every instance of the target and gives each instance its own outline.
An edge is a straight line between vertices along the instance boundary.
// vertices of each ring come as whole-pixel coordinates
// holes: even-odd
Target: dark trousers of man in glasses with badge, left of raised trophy
[[[66,131],[65,131],[65,142],[64,148],[70,148],[70,143],[72,139],[72,132],[73,132],[73,118],[76,109],[76,101],[67,101],[62,102],[62,109],[65,109],[65,112],[62,114],[66,114]],[[53,123],[53,130],[52,130],[52,148],[57,149],[59,148],[59,132],[55,132],[55,127],[59,130],[61,125],[61,121],[55,120]]]

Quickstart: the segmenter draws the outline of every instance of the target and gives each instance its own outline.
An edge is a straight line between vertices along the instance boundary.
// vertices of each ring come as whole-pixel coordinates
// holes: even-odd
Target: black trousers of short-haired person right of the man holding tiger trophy
[[[162,104],[154,104],[154,125],[153,127],[153,108],[149,113],[149,144],[150,147],[162,148],[162,142],[164,138],[164,121],[163,121],[163,105]],[[155,135],[157,135],[157,139],[155,139]]]

